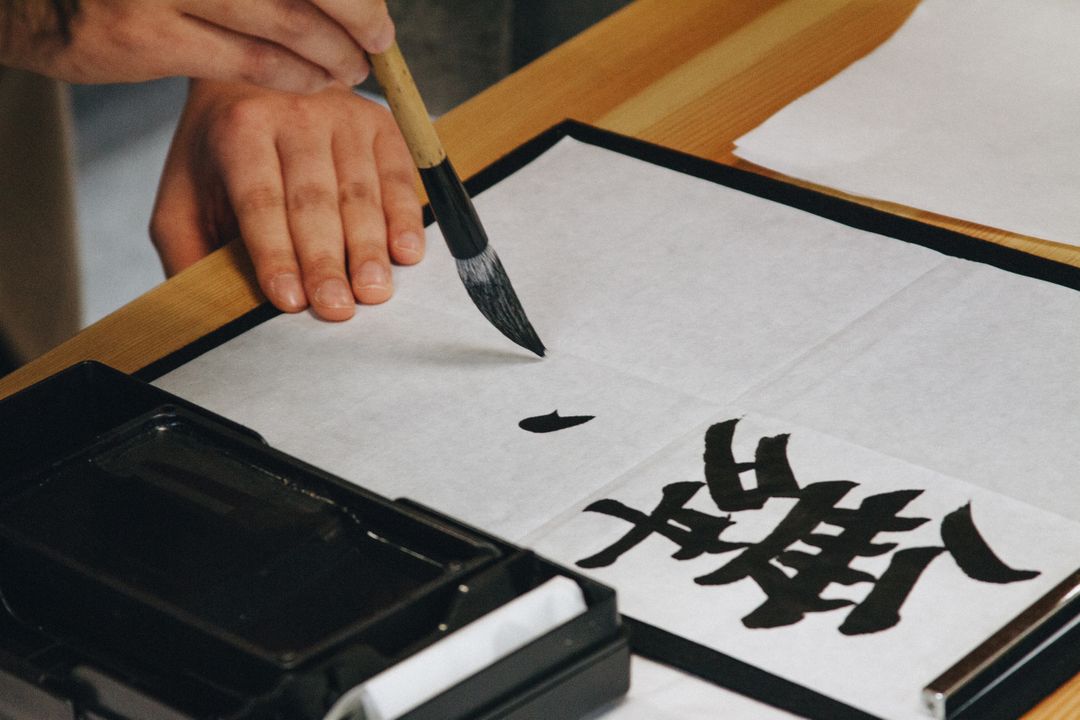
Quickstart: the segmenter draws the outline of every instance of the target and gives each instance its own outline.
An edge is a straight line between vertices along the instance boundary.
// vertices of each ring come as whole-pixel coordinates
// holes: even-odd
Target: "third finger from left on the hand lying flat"
[[[357,126],[334,137],[341,221],[353,294],[361,302],[386,302],[393,294],[387,223],[372,130]]]

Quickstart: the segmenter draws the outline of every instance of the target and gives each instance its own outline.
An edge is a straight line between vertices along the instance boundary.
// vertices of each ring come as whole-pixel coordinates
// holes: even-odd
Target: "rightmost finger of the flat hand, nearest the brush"
[[[376,135],[375,164],[379,168],[390,256],[401,264],[415,264],[424,253],[423,213],[416,193],[413,158],[392,120],[383,123]]]

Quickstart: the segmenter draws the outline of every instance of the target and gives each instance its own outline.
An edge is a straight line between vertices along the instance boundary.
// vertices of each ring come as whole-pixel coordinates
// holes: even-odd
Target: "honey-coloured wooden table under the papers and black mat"
[[[447,113],[437,127],[463,177],[564,118],[774,175],[734,158],[734,139],[876,47],[917,4],[637,0]],[[1077,247],[860,202],[1080,267]],[[260,302],[233,243],[0,379],[0,397],[85,358],[137,370]],[[1080,677],[1027,716],[1077,717]]]

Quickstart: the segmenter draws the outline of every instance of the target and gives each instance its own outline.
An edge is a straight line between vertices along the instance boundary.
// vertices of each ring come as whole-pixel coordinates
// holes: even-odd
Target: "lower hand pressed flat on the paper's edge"
[[[390,112],[341,86],[192,82],[150,234],[172,275],[237,236],[285,312],[348,320],[423,256],[415,169]]]

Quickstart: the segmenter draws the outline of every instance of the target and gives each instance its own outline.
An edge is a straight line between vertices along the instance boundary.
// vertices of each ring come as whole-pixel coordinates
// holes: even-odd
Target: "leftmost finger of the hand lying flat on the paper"
[[[259,287],[279,310],[298,312],[308,299],[285,214],[278,149],[269,131],[258,132],[269,120],[245,107],[251,106],[234,106],[212,142]]]

